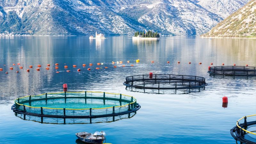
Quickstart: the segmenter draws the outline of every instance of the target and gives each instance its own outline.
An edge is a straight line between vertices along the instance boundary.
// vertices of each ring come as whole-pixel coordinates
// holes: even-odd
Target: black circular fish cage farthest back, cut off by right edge
[[[248,66],[218,66],[218,67],[210,67],[208,73],[213,77],[215,75],[219,76],[256,76],[256,67],[248,67]]]

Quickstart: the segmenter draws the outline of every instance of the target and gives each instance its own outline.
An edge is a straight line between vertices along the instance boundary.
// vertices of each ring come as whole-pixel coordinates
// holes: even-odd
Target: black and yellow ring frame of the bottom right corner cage
[[[230,130],[230,134],[235,140],[238,140],[238,141],[246,143],[246,144],[256,144],[256,142],[253,142],[253,141],[250,141],[250,140],[247,140],[244,138],[244,135],[246,133],[256,135],[256,133],[246,130],[249,126],[256,125],[256,121],[247,122],[247,117],[251,117],[251,116],[256,116],[256,114],[250,115],[250,116],[244,116],[236,121],[236,126]],[[239,124],[239,121],[242,119],[244,119],[244,123]],[[255,141],[256,141],[256,139],[255,139]]]

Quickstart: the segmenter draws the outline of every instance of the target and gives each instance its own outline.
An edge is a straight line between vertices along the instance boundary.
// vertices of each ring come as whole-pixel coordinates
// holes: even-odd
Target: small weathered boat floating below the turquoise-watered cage
[[[94,134],[89,133],[89,132],[78,132],[76,133],[76,137],[87,143],[94,143],[94,144],[102,144],[104,140],[106,140],[106,133],[101,131],[101,132],[94,132]]]

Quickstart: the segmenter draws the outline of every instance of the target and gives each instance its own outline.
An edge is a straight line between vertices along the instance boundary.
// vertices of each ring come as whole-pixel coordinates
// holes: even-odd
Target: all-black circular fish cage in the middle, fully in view
[[[200,76],[186,75],[137,75],[125,78],[124,85],[130,91],[153,92],[153,93],[175,93],[180,90],[182,93],[204,90],[207,83],[205,78]]]

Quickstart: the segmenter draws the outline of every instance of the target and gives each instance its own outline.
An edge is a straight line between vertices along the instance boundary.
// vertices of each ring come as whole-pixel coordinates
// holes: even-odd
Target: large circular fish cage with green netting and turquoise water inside
[[[132,96],[108,92],[57,92],[15,100],[15,115],[41,123],[77,124],[131,118],[140,109]]]

